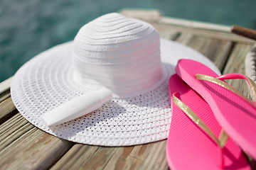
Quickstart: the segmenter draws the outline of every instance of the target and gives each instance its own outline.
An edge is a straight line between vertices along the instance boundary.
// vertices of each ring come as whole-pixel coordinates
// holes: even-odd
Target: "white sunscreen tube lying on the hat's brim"
[[[112,92],[106,88],[90,91],[87,94],[72,98],[70,101],[60,104],[60,106],[54,108],[52,111],[41,115],[41,118],[48,126],[59,125],[95,111],[111,99]]]

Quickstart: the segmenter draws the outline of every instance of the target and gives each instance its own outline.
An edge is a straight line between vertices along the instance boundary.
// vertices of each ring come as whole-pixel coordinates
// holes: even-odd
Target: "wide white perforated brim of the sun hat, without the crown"
[[[114,97],[97,111],[49,128],[41,120],[43,113],[91,90],[76,83],[73,77],[72,49],[73,42],[66,42],[24,64],[14,75],[11,98],[21,115],[36,127],[56,137],[88,145],[127,146],[166,139],[171,123],[168,80],[178,60],[197,60],[220,73],[199,52],[161,39],[164,66],[161,84],[137,96]]]

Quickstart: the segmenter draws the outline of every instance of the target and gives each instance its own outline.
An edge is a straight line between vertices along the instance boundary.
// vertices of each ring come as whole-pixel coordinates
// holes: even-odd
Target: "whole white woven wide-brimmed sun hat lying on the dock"
[[[167,85],[181,58],[219,72],[195,50],[160,39],[149,23],[109,13],[80,28],[74,41],[18,69],[11,98],[30,123],[65,140],[104,146],[164,140],[171,123]],[[61,103],[102,87],[113,98],[96,111],[51,128],[41,119]]]

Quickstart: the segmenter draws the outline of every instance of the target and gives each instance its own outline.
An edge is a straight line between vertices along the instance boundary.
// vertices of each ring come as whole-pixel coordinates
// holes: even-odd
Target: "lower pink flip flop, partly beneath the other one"
[[[169,79],[169,97],[172,118],[166,159],[170,169],[250,169],[240,147],[221,130],[208,103],[177,74]]]

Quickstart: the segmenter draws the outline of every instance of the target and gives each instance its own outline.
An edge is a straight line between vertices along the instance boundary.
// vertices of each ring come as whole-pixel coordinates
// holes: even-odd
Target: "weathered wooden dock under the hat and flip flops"
[[[229,26],[166,18],[157,11],[121,13],[151,23],[162,38],[201,52],[223,74],[245,74],[245,55],[255,41],[231,34]],[[43,132],[16,110],[10,82],[11,78],[0,84],[0,169],[169,169],[166,140],[131,147],[97,147]],[[245,82],[228,82],[249,95]]]

